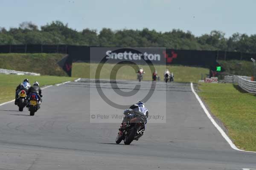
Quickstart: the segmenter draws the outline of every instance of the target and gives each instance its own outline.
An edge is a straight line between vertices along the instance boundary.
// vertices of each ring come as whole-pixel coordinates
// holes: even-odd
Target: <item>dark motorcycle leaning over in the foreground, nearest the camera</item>
[[[125,115],[122,127],[116,137],[116,144],[124,140],[125,144],[131,144],[133,140],[139,140],[143,136],[143,127],[145,123],[144,115],[137,112],[128,113]]]

